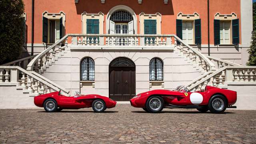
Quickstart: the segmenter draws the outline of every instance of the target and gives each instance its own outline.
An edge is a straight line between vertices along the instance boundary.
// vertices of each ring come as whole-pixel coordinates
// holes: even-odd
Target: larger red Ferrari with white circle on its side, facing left
[[[134,96],[132,106],[143,108],[146,112],[161,112],[163,108],[196,108],[200,112],[221,113],[236,103],[236,92],[213,86],[204,91],[190,92],[184,86],[175,90],[151,90]]]

